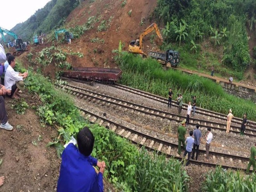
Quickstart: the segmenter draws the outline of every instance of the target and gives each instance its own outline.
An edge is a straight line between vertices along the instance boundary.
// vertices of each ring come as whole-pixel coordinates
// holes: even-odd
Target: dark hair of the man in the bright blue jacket
[[[84,127],[77,135],[78,149],[81,154],[89,156],[94,145],[94,136],[88,127]]]

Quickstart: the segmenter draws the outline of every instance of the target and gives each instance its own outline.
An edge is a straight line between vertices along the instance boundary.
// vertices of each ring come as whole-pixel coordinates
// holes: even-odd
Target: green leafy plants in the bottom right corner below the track
[[[202,185],[202,192],[255,192],[256,175],[244,175],[239,171],[224,171],[217,167],[206,175]]]

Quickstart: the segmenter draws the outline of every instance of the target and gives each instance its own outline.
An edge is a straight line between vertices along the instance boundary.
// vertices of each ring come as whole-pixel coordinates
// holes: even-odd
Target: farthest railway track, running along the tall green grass
[[[130,93],[141,95],[141,96],[146,97],[148,99],[156,100],[156,101],[161,102],[163,104],[168,104],[168,99],[166,99],[164,97],[161,97],[159,95],[154,95],[152,93],[144,92],[142,90],[138,90],[138,89],[131,88],[131,87],[128,87],[128,86],[125,86],[125,85],[117,84],[117,83],[115,83],[114,85],[110,85],[110,86],[112,86],[114,88],[124,90],[124,91],[127,91],[127,92],[130,92]],[[172,104],[172,106],[178,108],[178,106],[176,105],[175,100],[172,100],[171,104]],[[187,110],[187,104],[183,104],[182,109]],[[193,111],[193,109],[192,109],[192,111]],[[200,107],[196,107],[196,113],[227,121],[227,115],[221,114],[221,113],[218,113],[218,112],[214,112],[214,111],[209,111],[207,109],[203,109],[203,108],[200,108]],[[242,120],[243,119],[241,119],[241,118],[234,117],[232,119],[232,123],[242,124]],[[256,129],[256,122],[254,122],[254,121],[249,121],[249,122],[250,122],[250,125],[247,125],[246,127]]]

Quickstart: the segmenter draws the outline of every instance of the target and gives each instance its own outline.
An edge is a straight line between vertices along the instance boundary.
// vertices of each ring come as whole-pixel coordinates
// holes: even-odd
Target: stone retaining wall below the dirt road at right
[[[255,89],[247,88],[244,86],[236,86],[235,84],[230,84],[224,81],[220,81],[220,85],[223,87],[223,89],[226,92],[232,95],[236,95],[237,97],[240,97],[243,99],[250,99],[254,103],[256,103]]]

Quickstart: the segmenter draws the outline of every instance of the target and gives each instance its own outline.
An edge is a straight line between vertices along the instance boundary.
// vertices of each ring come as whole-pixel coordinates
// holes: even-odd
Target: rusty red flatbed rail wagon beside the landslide
[[[63,76],[80,80],[99,80],[114,83],[121,76],[121,69],[100,67],[74,67],[72,71],[65,71]]]

